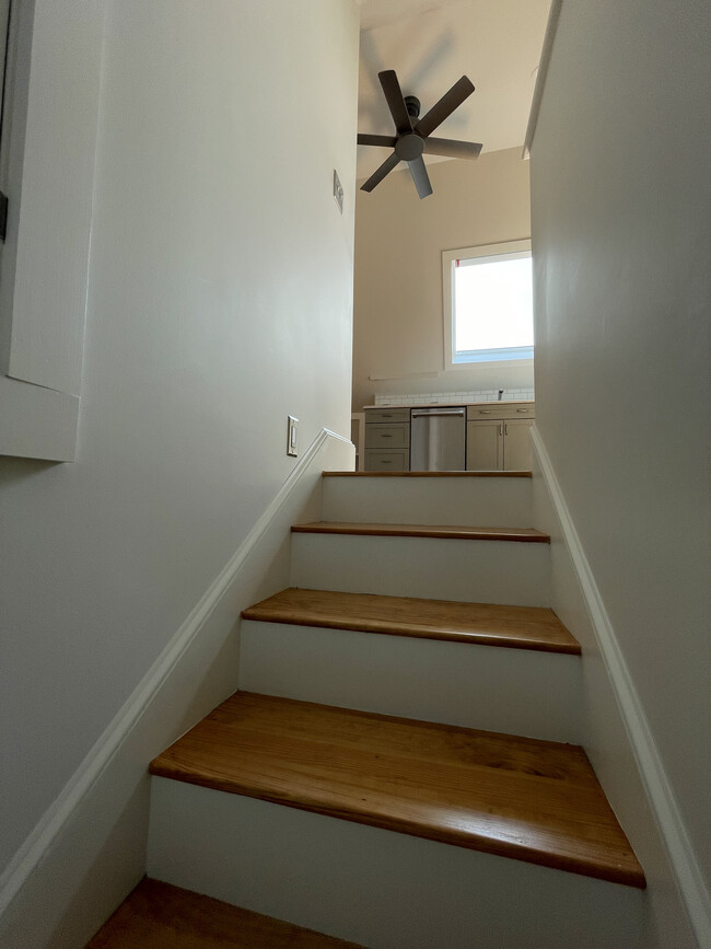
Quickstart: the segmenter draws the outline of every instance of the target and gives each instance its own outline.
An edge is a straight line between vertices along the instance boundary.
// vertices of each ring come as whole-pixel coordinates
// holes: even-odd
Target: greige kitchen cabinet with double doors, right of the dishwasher
[[[531,403],[467,408],[467,471],[531,471]]]

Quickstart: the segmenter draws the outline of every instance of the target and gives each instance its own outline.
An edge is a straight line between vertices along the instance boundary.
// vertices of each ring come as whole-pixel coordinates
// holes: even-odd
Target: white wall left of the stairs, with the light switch
[[[289,475],[287,414],[349,431],[357,69],[351,0],[107,2],[77,462],[0,460],[0,867]]]

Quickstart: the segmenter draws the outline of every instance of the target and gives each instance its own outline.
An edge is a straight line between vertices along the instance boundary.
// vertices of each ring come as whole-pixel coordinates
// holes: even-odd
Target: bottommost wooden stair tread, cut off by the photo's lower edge
[[[359,949],[311,929],[143,879],[86,949]]]

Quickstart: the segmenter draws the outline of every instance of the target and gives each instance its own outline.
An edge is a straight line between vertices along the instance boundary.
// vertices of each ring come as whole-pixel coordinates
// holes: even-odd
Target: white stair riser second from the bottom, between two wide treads
[[[254,621],[241,637],[247,692],[582,741],[576,656]]]

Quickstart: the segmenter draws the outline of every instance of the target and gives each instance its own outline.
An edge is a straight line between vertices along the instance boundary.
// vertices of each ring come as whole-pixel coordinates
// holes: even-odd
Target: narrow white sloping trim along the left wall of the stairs
[[[350,440],[322,428],[271,502],[264,510],[234,555],[199,600],[165,649],[145,673],[133,693],[107,726],[59,796],[45,811],[20,849],[0,877],[0,916],[18,895],[22,886],[40,863],[53,842],[108,767],[130,731],[180,661],[190,644],[199,635],[220,600],[234,583],[260,539],[283,505],[288,501],[302,476],[327,442],[336,440],[351,444]],[[145,763],[148,767],[148,762]]]

